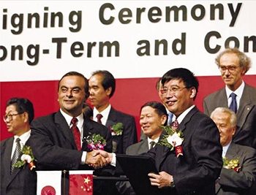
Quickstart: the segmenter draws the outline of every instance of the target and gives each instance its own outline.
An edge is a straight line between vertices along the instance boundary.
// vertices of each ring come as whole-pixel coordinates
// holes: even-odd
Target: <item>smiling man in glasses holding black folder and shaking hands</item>
[[[197,79],[188,69],[171,69],[163,75],[162,85],[165,106],[175,115],[179,123],[175,120],[175,127],[184,140],[176,145],[180,141],[177,137],[170,136],[173,142],[160,137],[159,143],[167,141],[169,145],[180,146],[183,156],[177,155],[178,148],[170,150],[162,144],[143,154],[154,158],[159,172],[148,174],[151,185],[159,188],[159,194],[214,195],[215,180],[222,169],[222,146],[214,121],[195,107]],[[115,164],[115,154],[98,152]]]

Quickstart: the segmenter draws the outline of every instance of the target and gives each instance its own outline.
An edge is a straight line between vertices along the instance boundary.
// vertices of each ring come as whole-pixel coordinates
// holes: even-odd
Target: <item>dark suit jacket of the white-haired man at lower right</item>
[[[249,195],[248,191],[255,184],[256,150],[244,145],[231,143],[227,149],[228,159],[239,158],[239,172],[222,168],[216,184],[217,195]]]

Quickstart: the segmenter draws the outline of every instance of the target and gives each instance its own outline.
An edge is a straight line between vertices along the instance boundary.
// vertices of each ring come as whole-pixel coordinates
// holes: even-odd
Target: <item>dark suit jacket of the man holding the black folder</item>
[[[215,180],[222,169],[222,146],[217,126],[194,107],[178,129],[184,134],[184,156],[177,158],[175,151],[159,144],[146,153],[154,158],[159,172],[173,175],[175,188],[162,188],[159,191],[172,195],[214,195]]]

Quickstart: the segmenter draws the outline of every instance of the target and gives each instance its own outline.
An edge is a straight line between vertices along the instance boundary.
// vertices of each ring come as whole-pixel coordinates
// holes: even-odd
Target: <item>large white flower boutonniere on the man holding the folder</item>
[[[177,158],[178,156],[183,156],[182,142],[184,138],[182,132],[172,126],[162,126],[162,129],[166,134],[159,140],[159,145],[165,145],[170,150],[174,148]]]

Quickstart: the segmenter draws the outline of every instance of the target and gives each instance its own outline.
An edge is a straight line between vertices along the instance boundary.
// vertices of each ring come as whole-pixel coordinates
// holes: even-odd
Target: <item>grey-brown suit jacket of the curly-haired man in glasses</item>
[[[211,115],[217,107],[227,107],[225,88],[211,93],[203,100],[206,115]],[[256,148],[256,88],[245,84],[236,115],[238,129],[233,136],[233,142]]]

